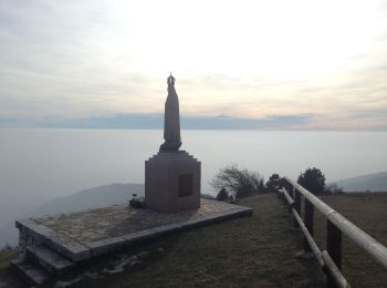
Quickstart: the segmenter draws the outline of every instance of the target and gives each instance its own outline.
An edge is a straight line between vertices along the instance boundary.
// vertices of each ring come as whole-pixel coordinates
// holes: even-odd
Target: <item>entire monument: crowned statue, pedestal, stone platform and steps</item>
[[[179,100],[172,75],[168,78],[164,140],[159,152],[145,162],[146,209],[123,203],[17,220],[20,255],[10,263],[18,278],[41,285],[50,275],[84,266],[123,247],[252,214],[251,208],[216,200],[202,199],[200,204],[200,162],[179,151]],[[171,214],[180,210],[186,212]]]

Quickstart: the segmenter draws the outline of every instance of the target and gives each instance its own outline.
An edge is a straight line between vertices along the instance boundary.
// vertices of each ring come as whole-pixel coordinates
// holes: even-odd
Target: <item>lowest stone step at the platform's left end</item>
[[[31,264],[23,257],[19,256],[10,263],[15,272],[31,286],[41,285],[49,278],[49,274],[42,267]]]

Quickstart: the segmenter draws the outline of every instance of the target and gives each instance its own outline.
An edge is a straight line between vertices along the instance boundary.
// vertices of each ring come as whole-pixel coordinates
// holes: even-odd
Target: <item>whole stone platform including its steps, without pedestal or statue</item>
[[[81,263],[160,236],[249,216],[251,208],[202,199],[179,213],[135,209],[127,204],[17,220],[20,257],[11,265],[29,285],[76,269]],[[1,286],[1,284],[0,284]]]

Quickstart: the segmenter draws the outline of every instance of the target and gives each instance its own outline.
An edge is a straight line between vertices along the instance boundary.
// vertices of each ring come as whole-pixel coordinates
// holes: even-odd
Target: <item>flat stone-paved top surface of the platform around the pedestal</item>
[[[32,220],[87,246],[107,238],[170,224],[196,223],[240,210],[245,209],[237,205],[202,199],[200,209],[174,214],[132,208],[127,204],[122,204],[79,213],[55,214]]]

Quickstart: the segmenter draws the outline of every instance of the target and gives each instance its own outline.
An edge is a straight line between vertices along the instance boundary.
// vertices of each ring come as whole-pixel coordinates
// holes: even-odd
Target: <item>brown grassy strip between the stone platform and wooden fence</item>
[[[139,268],[75,287],[324,286],[324,276],[313,260],[295,258],[302,237],[291,229],[285,208],[274,195],[254,196],[240,204],[253,207],[254,215],[143,246],[150,255]],[[161,255],[156,253],[159,247],[165,248]]]

